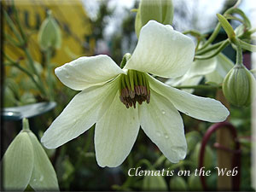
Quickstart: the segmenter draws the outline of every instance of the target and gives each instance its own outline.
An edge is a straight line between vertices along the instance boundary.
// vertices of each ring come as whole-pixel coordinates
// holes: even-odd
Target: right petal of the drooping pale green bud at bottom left
[[[44,148],[38,142],[38,138],[30,131],[28,133],[34,150],[34,167],[30,185],[36,191],[59,190],[55,170],[51,165]]]

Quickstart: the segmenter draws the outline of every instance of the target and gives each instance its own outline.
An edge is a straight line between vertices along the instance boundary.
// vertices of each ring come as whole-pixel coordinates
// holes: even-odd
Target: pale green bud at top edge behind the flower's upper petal
[[[137,9],[135,30],[137,37],[141,28],[149,20],[156,20],[164,25],[172,25],[174,8],[172,0],[142,0]]]

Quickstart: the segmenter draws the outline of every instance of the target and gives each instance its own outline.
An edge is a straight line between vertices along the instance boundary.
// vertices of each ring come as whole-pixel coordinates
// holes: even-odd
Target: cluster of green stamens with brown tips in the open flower
[[[145,73],[136,70],[128,70],[127,75],[121,74],[119,86],[119,98],[126,108],[136,108],[136,103],[149,103],[150,90],[148,79]]]

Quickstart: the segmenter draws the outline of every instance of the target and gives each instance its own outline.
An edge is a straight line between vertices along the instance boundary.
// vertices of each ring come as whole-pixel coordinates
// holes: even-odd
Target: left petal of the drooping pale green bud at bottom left
[[[25,190],[32,176],[34,154],[27,131],[21,131],[3,155],[3,189]]]

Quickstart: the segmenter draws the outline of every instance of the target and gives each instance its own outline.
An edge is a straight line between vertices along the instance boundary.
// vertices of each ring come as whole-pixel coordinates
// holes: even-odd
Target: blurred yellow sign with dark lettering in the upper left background
[[[29,37],[28,48],[32,57],[39,63],[44,62],[43,55],[38,46],[38,29],[46,17],[48,9],[61,27],[61,49],[55,50],[51,62],[56,67],[81,55],[93,55],[95,39],[91,38],[92,29],[90,18],[86,15],[80,0],[15,0],[21,26]],[[14,12],[10,5],[11,1],[3,2],[3,8],[13,19]],[[4,32],[14,37],[4,20]],[[24,56],[20,48],[12,44],[3,44],[6,55],[17,60]]]

